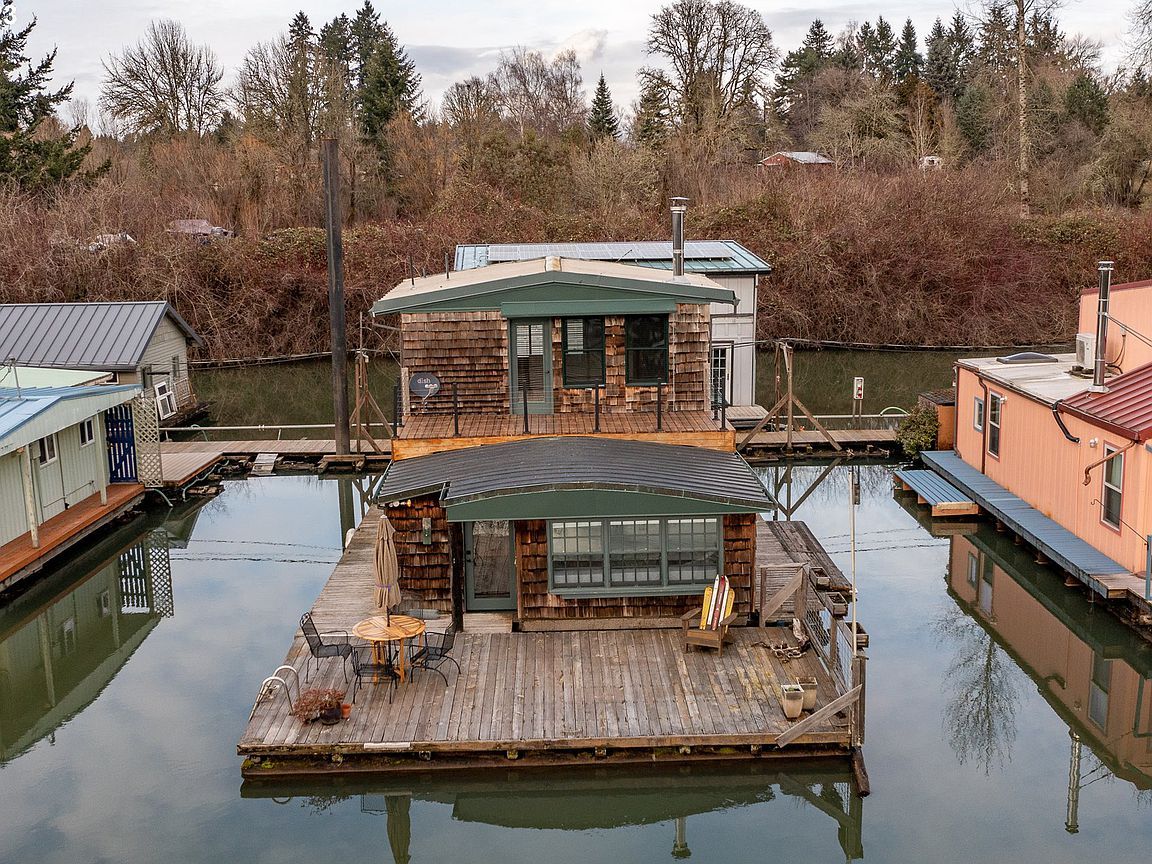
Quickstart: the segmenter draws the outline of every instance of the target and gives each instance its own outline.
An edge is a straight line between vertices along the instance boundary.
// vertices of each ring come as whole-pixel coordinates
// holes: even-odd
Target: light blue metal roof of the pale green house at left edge
[[[138,385],[0,387],[0,455],[128,402]]]

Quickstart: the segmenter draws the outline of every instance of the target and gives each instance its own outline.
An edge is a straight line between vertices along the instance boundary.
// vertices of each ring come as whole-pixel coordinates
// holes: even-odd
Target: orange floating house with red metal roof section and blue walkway
[[[1152,282],[1113,288],[1111,264],[1100,272],[1075,354],[957,362],[955,449],[924,458],[1097,594],[1147,615]]]

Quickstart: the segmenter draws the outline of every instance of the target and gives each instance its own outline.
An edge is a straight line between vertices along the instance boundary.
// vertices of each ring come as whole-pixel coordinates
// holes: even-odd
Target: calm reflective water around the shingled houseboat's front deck
[[[846,570],[848,470],[797,514]],[[869,798],[841,763],[243,783],[257,684],[362,511],[355,478],[271,477],[5,598],[0,861],[665,862],[680,832],[703,862],[1146,862],[1149,645],[987,525],[934,537],[888,467],[859,470]],[[819,468],[794,473],[798,498]]]

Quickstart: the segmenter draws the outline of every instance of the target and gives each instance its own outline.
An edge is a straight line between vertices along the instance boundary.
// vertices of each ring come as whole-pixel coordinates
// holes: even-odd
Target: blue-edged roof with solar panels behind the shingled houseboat
[[[672,270],[670,241],[624,243],[476,243],[456,247],[456,270],[473,270],[500,262],[523,262],[555,255],[561,258],[634,264]],[[734,240],[689,240],[684,243],[689,273],[771,273],[772,265]]]

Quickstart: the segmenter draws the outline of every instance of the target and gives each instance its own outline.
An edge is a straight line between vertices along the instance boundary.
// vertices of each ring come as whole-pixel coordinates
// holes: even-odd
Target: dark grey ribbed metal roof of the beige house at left
[[[0,304],[0,362],[26,366],[130,371],[164,316],[202,344],[166,301]]]

